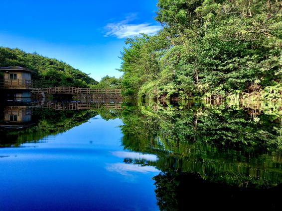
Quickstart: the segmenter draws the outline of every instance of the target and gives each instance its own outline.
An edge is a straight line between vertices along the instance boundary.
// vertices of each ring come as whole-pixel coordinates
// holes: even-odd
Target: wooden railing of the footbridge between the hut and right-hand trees
[[[76,87],[49,87],[42,88],[46,94],[121,94],[122,89],[91,89]]]

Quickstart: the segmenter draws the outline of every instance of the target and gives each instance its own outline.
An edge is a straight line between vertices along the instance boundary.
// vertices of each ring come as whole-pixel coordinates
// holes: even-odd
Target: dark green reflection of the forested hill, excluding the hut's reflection
[[[32,112],[34,126],[20,131],[0,130],[0,147],[19,146],[21,143],[38,141],[48,135],[56,135],[87,122],[97,115],[105,120],[116,119],[121,111],[116,109],[91,109],[58,111],[34,108]]]

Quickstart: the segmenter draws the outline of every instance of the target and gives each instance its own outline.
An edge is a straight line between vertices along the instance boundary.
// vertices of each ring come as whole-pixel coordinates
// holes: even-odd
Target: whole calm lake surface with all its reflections
[[[0,211],[281,210],[282,105],[7,102]]]

